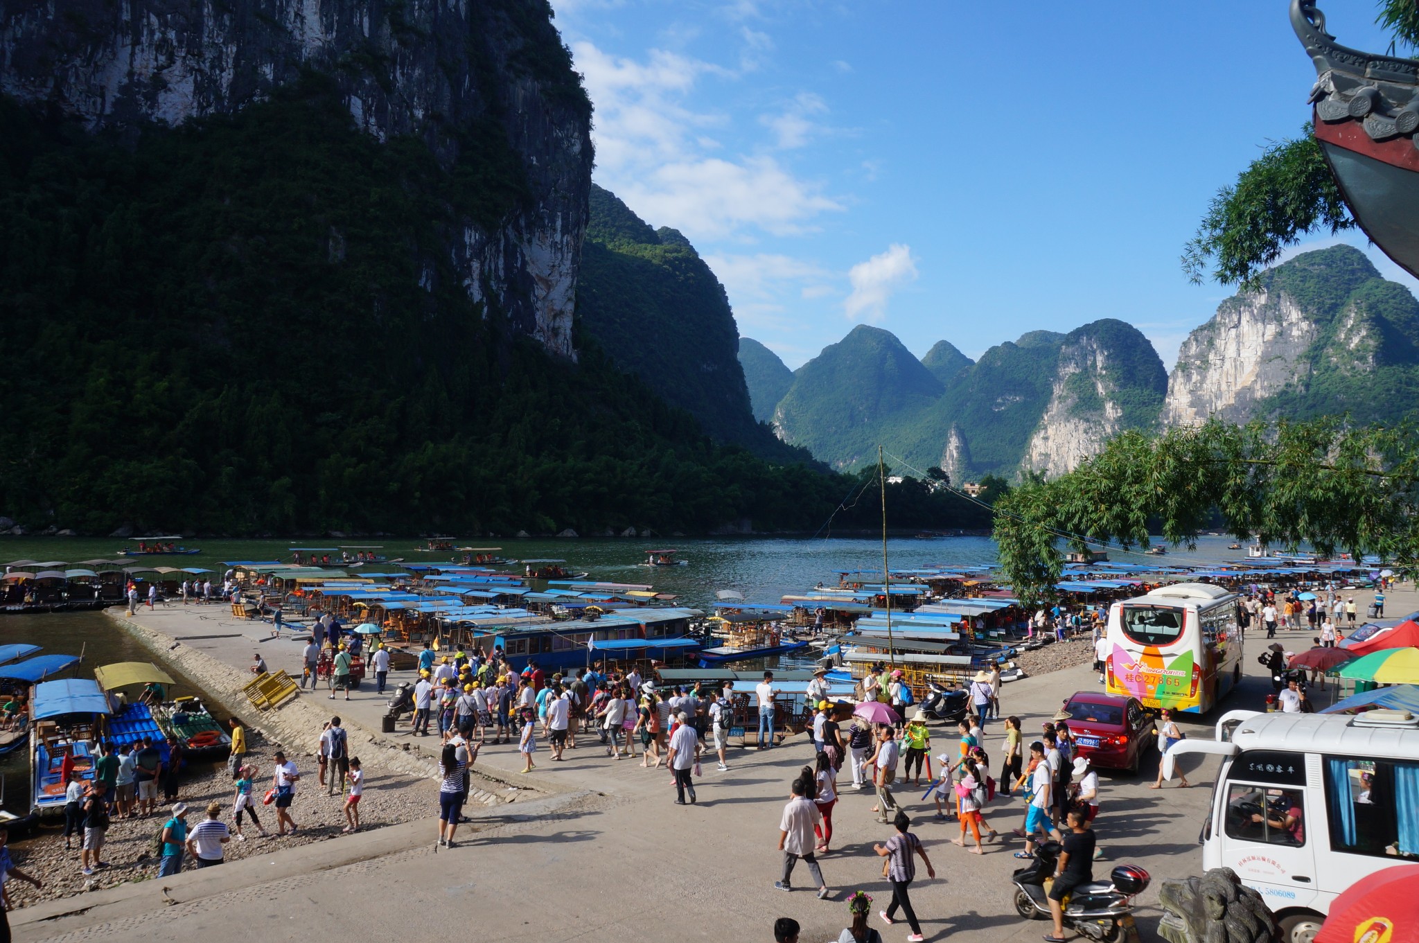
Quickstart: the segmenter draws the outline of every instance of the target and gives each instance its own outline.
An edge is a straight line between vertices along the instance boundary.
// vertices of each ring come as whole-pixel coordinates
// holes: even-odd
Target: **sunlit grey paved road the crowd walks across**
[[[1300,648],[1307,635],[1283,634],[1281,641]],[[214,654],[230,648],[228,657],[240,659],[234,664],[243,664],[253,644],[250,637],[213,640],[211,648]],[[236,651],[241,645],[245,651]],[[1260,706],[1270,689],[1254,661],[1261,648],[1249,640],[1247,676],[1227,708]],[[1006,685],[1003,708],[1033,732],[1071,692],[1097,686],[1087,669],[1051,672]],[[356,695],[350,706],[336,706],[363,719],[377,713],[377,705],[372,695]],[[1189,735],[1210,736],[1205,723],[1183,726]],[[986,742],[993,752],[998,726]],[[938,752],[942,746],[954,746],[948,732],[935,742]],[[871,796],[850,790],[834,813],[834,852],[823,861],[837,899],[820,902],[807,891],[786,895],[772,888],[779,811],[788,783],[809,759],[802,737],[763,753],[734,752],[728,773],[715,773],[711,764],[692,807],[673,804],[664,770],[614,763],[595,746],[569,750],[569,757],[559,764],[539,754],[539,779],[563,794],[480,813],[471,841],[453,851],[431,848],[436,786],[430,784],[426,825],[275,852],[217,869],[224,872],[220,878],[209,869],[105,892],[109,896],[95,895],[92,902],[102,906],[55,920],[40,917],[89,902],[31,908],[14,915],[16,939],[383,940],[407,939],[412,932],[441,936],[465,925],[480,940],[769,940],[773,917],[793,916],[803,923],[802,939],[819,942],[836,940],[844,926],[843,892],[867,891],[878,905],[890,898],[880,859],[870,854],[887,832],[868,814]],[[485,749],[480,764],[509,779],[521,766],[507,746]],[[1154,875],[1142,898],[1145,939],[1156,925],[1161,881],[1200,866],[1198,831],[1216,763],[1191,769],[1188,790],[1147,788],[1155,769],[1149,759],[1139,777],[1105,774],[1098,821],[1107,851],[1107,859],[1097,862],[1100,872],[1130,861]],[[915,796],[908,811],[925,810]],[[1005,834],[1019,824],[1022,807],[998,801],[986,817]],[[958,834],[952,824],[924,817],[917,831],[938,874],[914,892],[928,939],[962,932],[979,940],[1039,939],[1044,925],[1022,922],[1010,908],[1009,875],[1017,862],[1009,852],[1020,847],[1017,841],[992,845],[978,858],[948,844]],[[797,876],[806,886],[806,875]],[[165,905],[159,883],[184,903]],[[885,939],[898,933],[905,936],[904,925]]]

